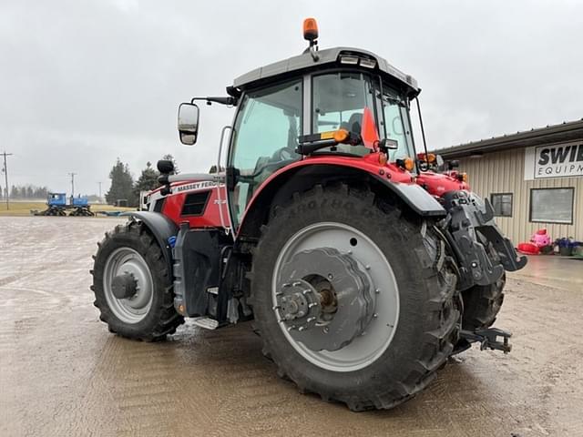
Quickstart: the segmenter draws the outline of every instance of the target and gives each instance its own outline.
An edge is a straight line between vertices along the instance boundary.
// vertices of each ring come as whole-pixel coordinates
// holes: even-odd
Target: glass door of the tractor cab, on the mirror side
[[[248,91],[241,97],[231,135],[229,167],[236,183],[229,187],[233,229],[253,193],[278,169],[301,158],[296,154],[302,134],[302,78]]]

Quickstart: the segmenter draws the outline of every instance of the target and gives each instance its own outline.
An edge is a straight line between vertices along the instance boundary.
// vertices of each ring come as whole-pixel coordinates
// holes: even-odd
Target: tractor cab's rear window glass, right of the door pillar
[[[414,158],[413,138],[407,101],[393,88],[381,86],[378,79],[358,72],[337,72],[312,78],[312,133],[346,129],[361,133],[364,107],[375,115],[379,137],[397,141],[389,150],[389,161]],[[321,152],[334,151],[364,156],[371,152],[363,146],[338,145]]]

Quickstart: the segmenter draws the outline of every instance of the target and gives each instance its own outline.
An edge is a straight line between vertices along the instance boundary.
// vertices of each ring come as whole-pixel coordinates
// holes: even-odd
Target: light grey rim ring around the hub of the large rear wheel
[[[351,254],[359,265],[368,268],[366,272],[371,279],[371,287],[376,291],[375,317],[368,323],[363,335],[354,338],[342,349],[312,351],[302,341],[292,337],[283,323],[284,320],[281,320],[280,312],[276,310],[278,281],[281,269],[295,254],[331,246],[341,253]],[[393,340],[399,320],[398,286],[393,269],[382,250],[360,230],[336,222],[313,224],[301,229],[288,240],[281,249],[273,269],[271,302],[281,332],[295,351],[312,364],[329,371],[357,371],[372,364]],[[316,326],[312,329],[317,328]]]

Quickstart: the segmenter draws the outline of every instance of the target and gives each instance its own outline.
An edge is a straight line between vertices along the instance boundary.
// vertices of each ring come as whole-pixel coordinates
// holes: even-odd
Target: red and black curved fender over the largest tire
[[[294,192],[305,191],[318,184],[329,182],[345,182],[356,185],[368,184],[374,188],[385,190],[400,198],[405,205],[422,217],[445,217],[446,211],[424,188],[412,183],[393,182],[384,177],[385,170],[378,166],[355,165],[356,160],[336,158],[336,162],[328,163],[323,159],[305,159],[282,168],[271,175],[251,199],[245,215],[240,223],[238,235],[247,238],[259,238],[261,225],[269,219],[272,207],[284,205],[292,198]],[[312,162],[311,162],[312,161]],[[323,162],[322,162],[323,161]],[[340,161],[340,162],[339,162]],[[356,161],[357,162],[357,161]],[[373,171],[371,171],[373,169]],[[380,170],[383,170],[382,172]]]

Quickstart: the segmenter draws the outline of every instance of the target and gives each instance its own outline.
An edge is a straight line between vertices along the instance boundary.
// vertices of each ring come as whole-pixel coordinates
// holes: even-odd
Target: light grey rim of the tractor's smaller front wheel
[[[131,274],[137,282],[137,291],[128,299],[118,299],[112,290],[112,281],[118,275]],[[154,281],[146,260],[138,251],[119,248],[107,258],[103,287],[107,304],[114,315],[126,323],[143,320],[152,306]]]

